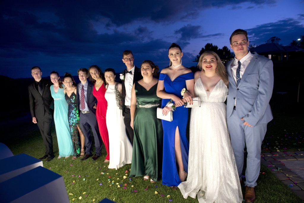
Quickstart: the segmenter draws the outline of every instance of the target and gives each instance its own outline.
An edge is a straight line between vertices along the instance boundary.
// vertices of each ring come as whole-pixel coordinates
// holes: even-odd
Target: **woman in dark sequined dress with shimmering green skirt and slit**
[[[71,138],[74,149],[72,159],[85,155],[85,137],[80,129],[78,106],[76,100],[76,83],[70,73],[63,76],[63,84],[65,86],[64,95],[68,105],[68,120],[71,130]]]

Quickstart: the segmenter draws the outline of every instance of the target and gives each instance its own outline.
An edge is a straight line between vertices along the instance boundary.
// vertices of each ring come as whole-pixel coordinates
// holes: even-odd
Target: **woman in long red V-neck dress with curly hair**
[[[105,114],[107,112],[107,100],[105,99],[105,76],[97,65],[90,66],[88,73],[90,81],[94,84],[93,95],[97,99],[96,119],[100,136],[107,152],[104,163],[108,163],[110,160],[110,155],[109,134],[105,121]]]

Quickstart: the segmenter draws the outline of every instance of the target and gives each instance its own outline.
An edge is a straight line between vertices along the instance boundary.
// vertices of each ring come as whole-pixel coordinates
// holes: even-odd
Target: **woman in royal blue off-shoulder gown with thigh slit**
[[[194,96],[194,77],[190,69],[181,65],[183,53],[181,47],[173,43],[169,47],[170,66],[162,69],[157,85],[157,96],[162,98],[163,114],[167,115],[171,107],[166,107],[172,100],[176,110],[173,121],[162,120],[164,131],[162,184],[178,186],[185,181],[188,171],[189,142],[186,138],[188,108],[184,102],[192,103]],[[187,91],[181,96],[181,90]]]

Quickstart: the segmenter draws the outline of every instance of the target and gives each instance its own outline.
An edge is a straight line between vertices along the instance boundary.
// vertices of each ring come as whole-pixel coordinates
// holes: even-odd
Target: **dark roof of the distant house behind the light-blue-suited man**
[[[291,51],[304,51],[304,49],[296,47],[294,45],[282,46],[276,43],[268,43],[268,44],[261,44],[257,47],[250,49],[250,51],[255,51],[258,54],[263,53],[282,53],[282,52],[291,52]]]

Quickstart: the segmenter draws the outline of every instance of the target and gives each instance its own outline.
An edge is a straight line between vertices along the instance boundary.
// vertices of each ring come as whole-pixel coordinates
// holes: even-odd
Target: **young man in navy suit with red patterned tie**
[[[88,70],[86,68],[81,68],[77,72],[79,77],[79,84],[77,85],[77,102],[79,110],[79,121],[80,127],[85,136],[85,156],[80,159],[81,161],[88,159],[92,156],[92,141],[91,141],[91,131],[93,132],[95,141],[95,155],[92,160],[98,159],[101,156],[101,137],[98,130],[98,124],[96,120],[96,104],[97,100],[93,95],[94,85],[88,81]],[[83,88],[83,90],[81,90]],[[83,103],[81,104],[81,91],[83,91]]]

